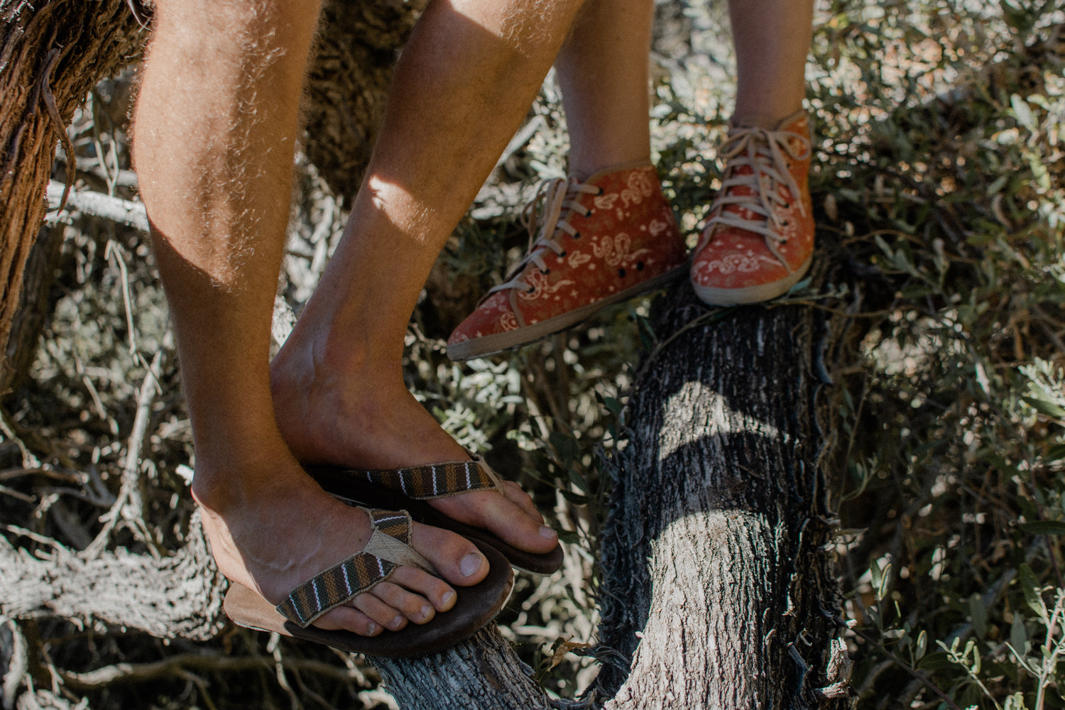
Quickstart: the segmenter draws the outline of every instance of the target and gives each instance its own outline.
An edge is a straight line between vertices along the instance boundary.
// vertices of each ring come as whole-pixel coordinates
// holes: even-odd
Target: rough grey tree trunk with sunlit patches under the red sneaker
[[[673,295],[604,528],[605,708],[847,706],[821,435],[841,325]]]

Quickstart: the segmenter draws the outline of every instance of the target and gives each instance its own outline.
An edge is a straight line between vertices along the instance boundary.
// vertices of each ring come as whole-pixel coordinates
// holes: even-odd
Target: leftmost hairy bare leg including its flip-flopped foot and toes
[[[316,0],[162,0],[136,111],[137,169],[196,442],[193,495],[222,572],[273,602],[370,534],[365,514],[300,469],[269,391],[294,97],[317,12]],[[457,535],[417,526],[414,546],[452,584],[487,574]],[[445,581],[402,567],[317,625],[372,635],[454,599]]]

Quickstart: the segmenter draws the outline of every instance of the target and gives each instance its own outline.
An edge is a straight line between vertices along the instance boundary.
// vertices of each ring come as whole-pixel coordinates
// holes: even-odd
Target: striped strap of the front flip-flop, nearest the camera
[[[277,611],[300,628],[381,583],[402,565],[437,575],[432,564],[410,547],[411,521],[407,511],[367,510],[373,534],[361,552],[318,573],[289,593]]]

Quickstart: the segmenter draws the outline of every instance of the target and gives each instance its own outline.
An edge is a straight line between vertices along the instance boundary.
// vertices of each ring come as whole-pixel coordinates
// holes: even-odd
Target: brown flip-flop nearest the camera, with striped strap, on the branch
[[[456,587],[455,606],[438,612],[428,623],[409,623],[398,631],[386,630],[376,637],[311,626],[327,611],[388,579],[399,565],[417,566],[437,574],[428,560],[408,545],[411,517],[407,511],[366,512],[374,533],[361,552],[298,585],[277,606],[234,582],[229,585],[223,601],[226,614],[245,628],[276,631],[354,654],[407,658],[440,651],[469,639],[503,609],[514,585],[514,573],[502,554],[474,540],[471,542],[488,558],[488,576],[473,587]]]

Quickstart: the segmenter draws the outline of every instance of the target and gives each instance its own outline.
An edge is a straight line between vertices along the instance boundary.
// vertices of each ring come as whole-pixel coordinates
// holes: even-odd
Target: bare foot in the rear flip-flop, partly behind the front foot
[[[298,329],[271,364],[278,427],[297,459],[367,469],[469,460],[407,391],[398,366],[326,366],[299,344]],[[544,554],[558,544],[532,499],[512,481],[502,494],[476,491],[427,502],[519,549]]]

